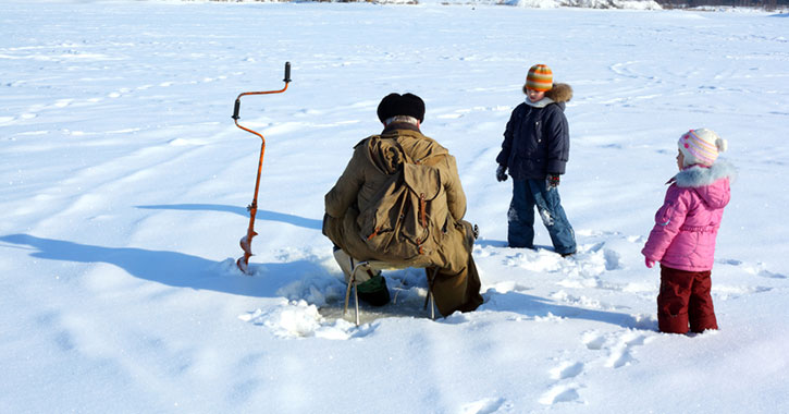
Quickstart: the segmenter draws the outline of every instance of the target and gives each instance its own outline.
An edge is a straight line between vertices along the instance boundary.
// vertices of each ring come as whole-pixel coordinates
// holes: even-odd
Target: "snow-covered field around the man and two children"
[[[492,5],[0,3],[0,412],[786,413],[789,19]],[[241,256],[267,138],[250,260]],[[560,193],[579,253],[506,245],[502,132],[528,68],[575,88]],[[337,318],[323,195],[379,100],[424,98],[479,224],[485,303]],[[719,331],[656,331],[640,249],[708,127],[739,168]]]

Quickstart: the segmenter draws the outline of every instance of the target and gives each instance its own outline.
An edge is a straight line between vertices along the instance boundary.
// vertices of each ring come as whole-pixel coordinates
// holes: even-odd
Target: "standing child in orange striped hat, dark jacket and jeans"
[[[559,176],[569,159],[570,135],[565,102],[572,98],[570,85],[553,82],[544,64],[529,69],[523,85],[525,102],[518,105],[504,131],[496,157],[496,179],[513,178],[513,200],[507,212],[509,247],[534,248],[534,207],[562,256],[576,253],[576,234],[559,198]]]

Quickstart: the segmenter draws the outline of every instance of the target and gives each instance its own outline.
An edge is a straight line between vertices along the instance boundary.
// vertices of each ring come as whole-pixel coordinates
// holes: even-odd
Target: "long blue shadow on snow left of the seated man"
[[[254,276],[241,272],[232,260],[212,261],[178,252],[138,247],[103,247],[29,234],[0,236],[0,242],[30,249],[30,256],[72,263],[107,263],[130,275],[177,288],[274,297],[276,291],[307,275],[329,275],[308,260],[250,265]],[[268,277],[272,275],[274,277]],[[262,276],[262,277],[260,277]]]

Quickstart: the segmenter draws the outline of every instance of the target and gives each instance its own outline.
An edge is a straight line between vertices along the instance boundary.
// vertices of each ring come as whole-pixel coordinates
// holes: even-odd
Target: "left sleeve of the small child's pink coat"
[[[655,226],[650,232],[644,248],[641,253],[649,259],[661,261],[666,249],[679,233],[688,215],[690,199],[688,191],[671,185],[666,191],[666,198],[663,206],[655,214]]]

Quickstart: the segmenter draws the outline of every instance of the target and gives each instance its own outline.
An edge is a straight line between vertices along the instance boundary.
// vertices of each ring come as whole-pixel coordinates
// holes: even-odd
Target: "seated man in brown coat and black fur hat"
[[[446,148],[421,133],[424,101],[420,97],[414,94],[390,94],[378,106],[378,118],[383,123],[383,131],[356,144],[345,171],[325,195],[323,234],[335,245],[334,257],[345,273],[346,283],[352,265],[359,260],[373,259],[412,267],[435,266],[437,272],[432,290],[439,312],[447,316],[455,310],[476,309],[482,303],[480,279],[471,257],[476,234],[472,226],[464,220],[466,195],[455,158]],[[387,162],[392,162],[392,159],[385,151],[374,147],[377,143],[386,143],[387,148],[398,148],[405,157],[430,167],[429,172],[440,187],[430,188],[429,192],[441,194],[433,200],[431,219],[445,217],[445,222],[440,223],[440,231],[434,232],[440,238],[435,249],[416,257],[402,257],[402,245],[398,244],[405,243],[407,235],[395,236],[389,247],[380,249],[371,248],[366,243],[366,240],[378,238],[380,230],[375,229],[370,234],[361,230],[367,226],[366,211],[381,197],[382,188],[391,176]],[[424,216],[422,220],[426,220]],[[371,305],[380,306],[390,301],[386,281],[380,271],[357,288],[359,299]]]

